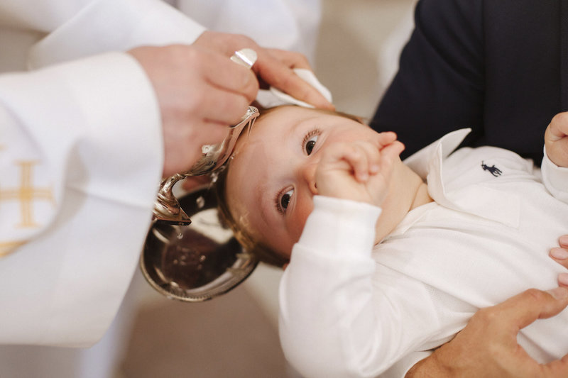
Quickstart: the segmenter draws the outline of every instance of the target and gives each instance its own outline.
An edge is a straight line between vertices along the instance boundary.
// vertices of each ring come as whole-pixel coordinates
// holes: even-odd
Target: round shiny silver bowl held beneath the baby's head
[[[217,215],[212,190],[200,187],[181,196],[190,225],[155,219],[140,257],[143,276],[170,299],[200,302],[226,293],[258,264]]]

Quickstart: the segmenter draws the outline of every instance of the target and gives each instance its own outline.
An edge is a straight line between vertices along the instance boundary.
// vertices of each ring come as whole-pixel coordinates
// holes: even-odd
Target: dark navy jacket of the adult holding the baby
[[[546,126],[568,110],[563,14],[560,0],[419,1],[371,126],[398,133],[403,157],[470,127],[464,145],[495,145],[540,163]]]

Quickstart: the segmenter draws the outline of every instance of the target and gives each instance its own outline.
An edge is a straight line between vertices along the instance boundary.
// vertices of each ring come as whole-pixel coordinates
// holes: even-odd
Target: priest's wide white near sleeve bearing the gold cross
[[[0,127],[0,343],[90,345],[151,221],[163,166],[151,84],[119,52],[4,74]]]

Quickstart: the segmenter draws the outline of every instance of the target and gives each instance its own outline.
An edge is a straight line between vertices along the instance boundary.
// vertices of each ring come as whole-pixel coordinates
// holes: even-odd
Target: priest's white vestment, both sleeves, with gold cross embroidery
[[[0,3],[0,343],[87,346],[108,328],[163,163],[155,94],[119,51],[203,30],[157,0]]]

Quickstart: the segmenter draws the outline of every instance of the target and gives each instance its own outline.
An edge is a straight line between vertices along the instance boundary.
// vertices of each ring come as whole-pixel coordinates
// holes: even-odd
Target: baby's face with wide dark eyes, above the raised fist
[[[368,126],[313,109],[268,113],[236,143],[226,179],[231,214],[253,238],[289,257],[313,209],[322,150],[372,138],[378,133]]]

